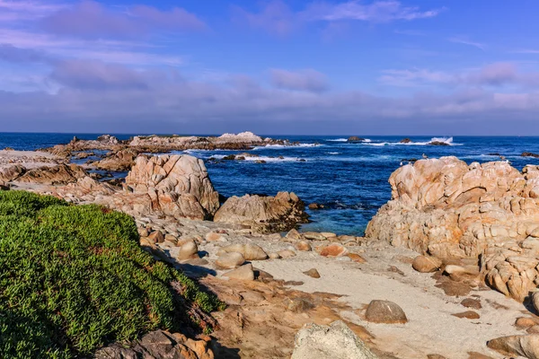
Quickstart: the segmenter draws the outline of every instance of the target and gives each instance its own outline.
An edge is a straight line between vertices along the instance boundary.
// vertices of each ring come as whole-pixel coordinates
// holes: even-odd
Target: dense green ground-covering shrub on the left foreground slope
[[[220,305],[142,250],[128,215],[0,191],[0,357],[88,355],[156,328],[179,330],[188,311]]]

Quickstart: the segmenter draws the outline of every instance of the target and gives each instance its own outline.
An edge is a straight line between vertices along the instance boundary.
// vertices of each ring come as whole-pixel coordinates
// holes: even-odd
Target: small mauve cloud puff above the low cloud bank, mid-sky
[[[306,92],[323,92],[328,89],[326,76],[311,69],[300,71],[272,69],[270,80],[272,85],[279,89]]]

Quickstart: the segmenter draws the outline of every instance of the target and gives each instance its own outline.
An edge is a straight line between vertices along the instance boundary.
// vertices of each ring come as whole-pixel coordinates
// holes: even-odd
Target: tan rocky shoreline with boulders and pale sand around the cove
[[[539,357],[537,166],[455,157],[402,166],[389,180],[392,200],[357,237],[297,232],[308,217],[294,193],[220,198],[201,160],[145,154],[264,144],[284,143],[252,134],[101,136],[0,151],[2,188],[132,215],[145,250],[227,304],[213,314],[210,337],[156,332],[130,352],[111,346],[97,357]],[[126,179],[105,183],[69,162],[90,151],[109,153],[89,166],[128,170]],[[336,351],[344,337],[349,344]]]

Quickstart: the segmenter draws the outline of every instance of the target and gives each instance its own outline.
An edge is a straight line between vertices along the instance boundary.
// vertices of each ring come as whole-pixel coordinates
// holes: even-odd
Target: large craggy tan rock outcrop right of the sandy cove
[[[519,301],[539,284],[539,166],[442,157],[402,166],[389,182],[392,200],[368,223],[368,238],[481,258],[487,282]]]

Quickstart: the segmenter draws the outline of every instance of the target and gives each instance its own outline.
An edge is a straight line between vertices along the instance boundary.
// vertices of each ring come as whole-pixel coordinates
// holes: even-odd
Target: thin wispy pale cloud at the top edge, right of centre
[[[422,11],[417,6],[404,6],[399,1],[375,1],[362,4],[349,1],[341,4],[314,3],[307,7],[304,15],[309,20],[341,21],[358,20],[363,22],[412,21],[437,16],[445,8]]]

